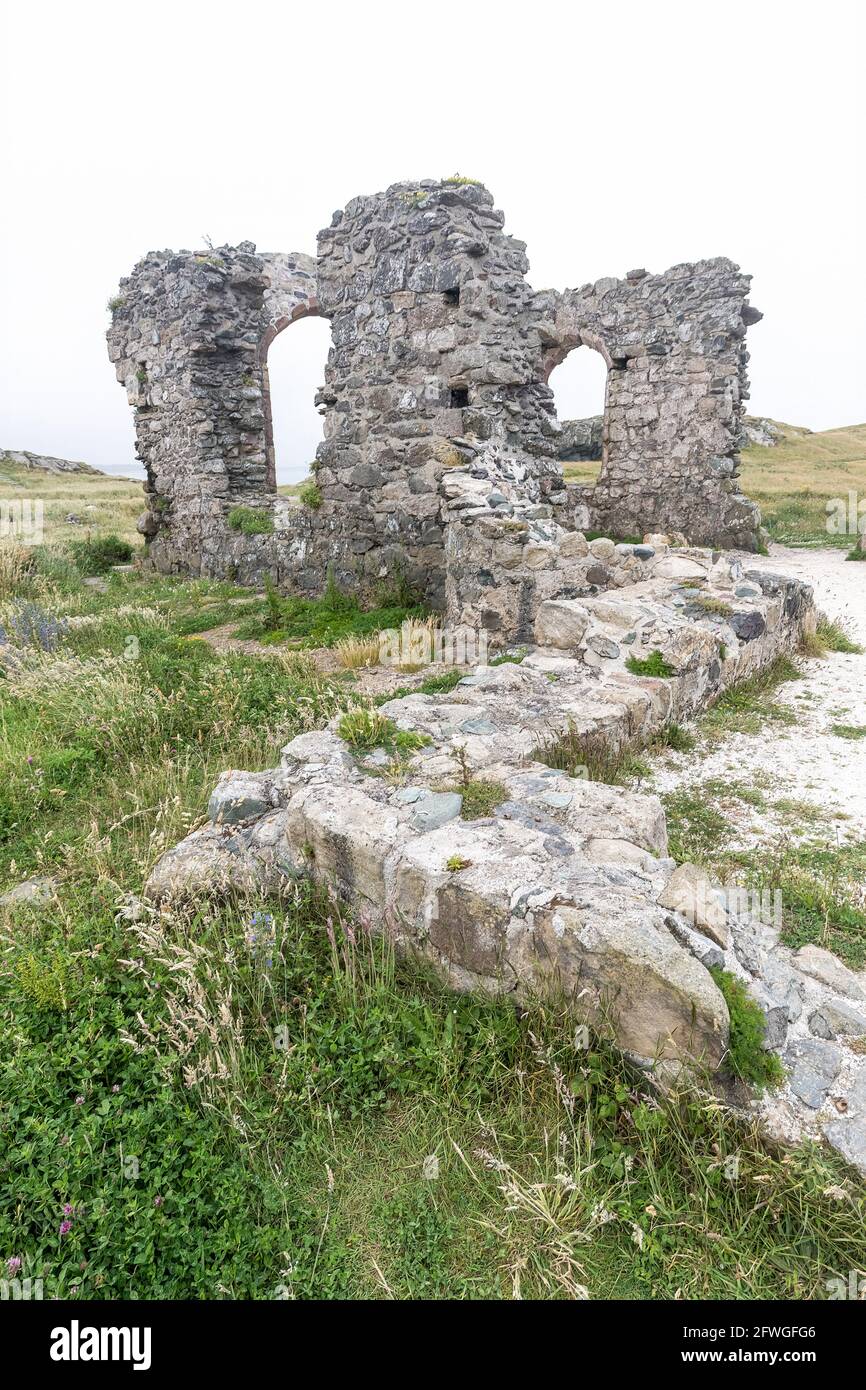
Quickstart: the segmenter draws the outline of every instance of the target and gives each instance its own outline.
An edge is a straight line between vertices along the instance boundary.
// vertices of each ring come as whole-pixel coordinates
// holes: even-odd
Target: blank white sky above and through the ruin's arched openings
[[[539,289],[731,256],[765,311],[749,410],[862,423],[865,13],[7,0],[0,443],[131,464],[104,306],[145,252],[314,253],[349,197],[457,171],[528,242]],[[325,352],[314,320],[271,349],[284,478],[316,446]],[[585,374],[560,413],[601,409]]]

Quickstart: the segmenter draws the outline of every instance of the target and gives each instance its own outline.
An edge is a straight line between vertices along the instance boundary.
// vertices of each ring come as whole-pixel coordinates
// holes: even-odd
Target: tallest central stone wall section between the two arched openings
[[[481,185],[396,183],[353,199],[318,238],[334,336],[320,520],[349,524],[352,552],[377,570],[402,552],[439,602],[449,467],[495,441],[542,495],[562,489],[525,247],[503,221]]]

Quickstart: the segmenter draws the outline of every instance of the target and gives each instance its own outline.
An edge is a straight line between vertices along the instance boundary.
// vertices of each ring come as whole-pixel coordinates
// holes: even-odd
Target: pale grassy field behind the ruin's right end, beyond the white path
[[[777,423],[778,424],[778,423]],[[851,535],[827,531],[827,502],[856,492],[866,500],[866,425],[812,432],[778,424],[784,439],[770,449],[742,452],[741,485],[760,506],[763,524],[783,545],[828,545],[851,549]],[[571,482],[595,482],[598,463],[567,463]]]

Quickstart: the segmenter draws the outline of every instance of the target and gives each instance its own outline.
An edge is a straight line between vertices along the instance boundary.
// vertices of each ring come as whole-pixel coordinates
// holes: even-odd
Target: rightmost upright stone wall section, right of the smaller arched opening
[[[569,489],[571,524],[756,549],[760,513],[737,482],[745,335],[762,317],[748,292],[749,277],[719,257],[556,296],[548,370],[581,345],[607,364],[602,470],[595,486]]]

